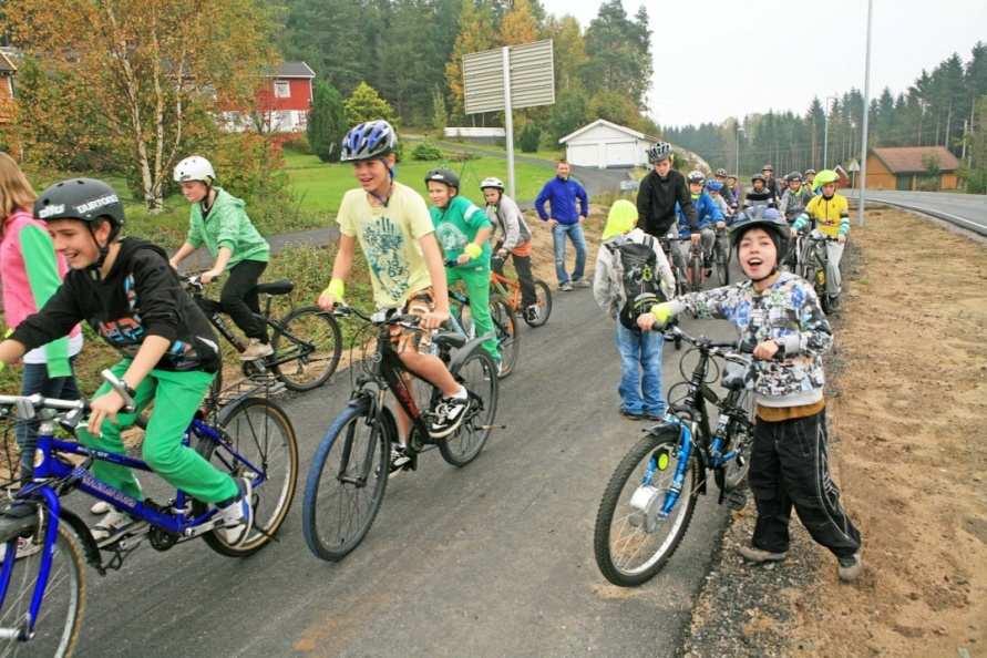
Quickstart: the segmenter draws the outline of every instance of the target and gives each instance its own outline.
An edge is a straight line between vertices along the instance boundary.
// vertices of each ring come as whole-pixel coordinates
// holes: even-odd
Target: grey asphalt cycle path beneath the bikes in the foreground
[[[343,407],[346,374],[285,403],[301,472],[279,542],[247,559],[202,542],[167,553],[144,545],[121,572],[90,569],[79,655],[674,655],[727,514],[702,498],[676,555],[638,589],[600,576],[599,497],[645,425],[617,413],[611,321],[588,290],[556,302],[544,328],[524,328],[522,360],[502,382],[498,422],[508,428],[462,470],[431,452],[417,473],[391,480],[343,562],[313,557],[300,522],[309,461]],[[722,322],[701,330],[733,336]],[[670,346],[665,372],[678,381]]]

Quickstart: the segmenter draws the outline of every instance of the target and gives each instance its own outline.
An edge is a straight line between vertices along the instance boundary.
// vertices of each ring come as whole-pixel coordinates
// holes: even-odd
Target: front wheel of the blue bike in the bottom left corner
[[[4,569],[11,567],[0,607],[0,627],[19,628],[28,623],[31,599],[44,554],[40,543],[43,532],[30,539],[17,537],[0,545]],[[18,545],[20,544],[20,547]],[[34,620],[34,637],[28,641],[0,639],[0,656],[71,656],[79,641],[85,611],[85,566],[75,535],[59,524],[51,553],[51,568],[41,609]],[[12,565],[7,562],[12,561]]]

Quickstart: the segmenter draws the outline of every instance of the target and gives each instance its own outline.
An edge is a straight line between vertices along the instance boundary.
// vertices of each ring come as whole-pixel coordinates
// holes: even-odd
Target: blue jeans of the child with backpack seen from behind
[[[631,331],[617,322],[617,351],[620,352],[620,407],[630,413],[665,415],[661,387],[660,331]]]

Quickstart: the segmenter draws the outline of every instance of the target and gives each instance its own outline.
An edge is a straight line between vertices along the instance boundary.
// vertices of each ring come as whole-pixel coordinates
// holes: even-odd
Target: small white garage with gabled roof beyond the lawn
[[[569,164],[583,167],[647,165],[647,151],[658,140],[624,125],[597,119],[558,141]]]

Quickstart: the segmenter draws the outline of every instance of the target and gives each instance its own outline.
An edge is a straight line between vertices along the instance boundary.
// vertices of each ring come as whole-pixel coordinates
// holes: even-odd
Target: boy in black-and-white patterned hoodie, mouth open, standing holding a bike
[[[732,321],[742,342],[754,346],[757,422],[748,477],[758,520],[751,545],[740,553],[755,563],[784,559],[794,506],[812,538],[836,556],[840,579],[855,580],[863,568],[861,534],[827,466],[822,354],[833,342],[830,325],[812,286],[779,270],[791,244],[784,219],[744,215],[730,238],[748,280],[656,305],[638,326],[647,331],[689,310]]]

